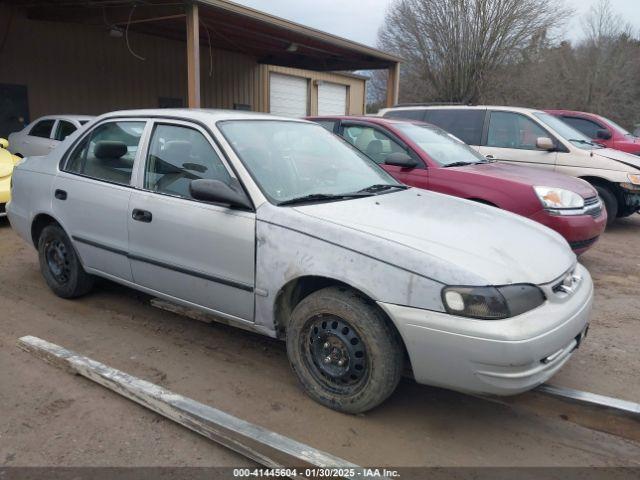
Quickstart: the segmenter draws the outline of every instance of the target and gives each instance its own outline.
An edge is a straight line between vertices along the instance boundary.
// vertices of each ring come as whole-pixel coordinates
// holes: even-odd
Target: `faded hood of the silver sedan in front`
[[[445,284],[543,284],[576,262],[567,242],[536,222],[416,188],[296,207],[270,205],[260,217]]]

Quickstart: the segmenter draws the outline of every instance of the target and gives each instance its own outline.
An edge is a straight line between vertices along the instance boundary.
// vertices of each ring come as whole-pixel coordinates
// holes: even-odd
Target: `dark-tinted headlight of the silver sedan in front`
[[[527,283],[442,289],[442,303],[447,313],[483,320],[515,317],[539,307],[545,300],[542,290]]]

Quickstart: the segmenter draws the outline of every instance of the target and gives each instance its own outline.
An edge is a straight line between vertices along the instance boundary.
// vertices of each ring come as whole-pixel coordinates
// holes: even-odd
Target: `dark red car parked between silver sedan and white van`
[[[401,182],[508,210],[560,233],[576,254],[604,231],[607,214],[583,180],[489,161],[432,125],[382,117],[309,117]]]

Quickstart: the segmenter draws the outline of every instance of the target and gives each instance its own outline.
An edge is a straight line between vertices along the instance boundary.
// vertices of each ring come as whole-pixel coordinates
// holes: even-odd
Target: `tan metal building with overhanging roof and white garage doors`
[[[339,13],[337,13],[339,14]],[[226,0],[0,3],[0,136],[38,116],[144,107],[362,114],[400,59]]]

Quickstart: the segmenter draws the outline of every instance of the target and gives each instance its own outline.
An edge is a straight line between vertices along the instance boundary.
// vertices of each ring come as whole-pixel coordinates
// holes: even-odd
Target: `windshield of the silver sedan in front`
[[[340,200],[406,188],[315,123],[226,120],[217,125],[272,203]]]

